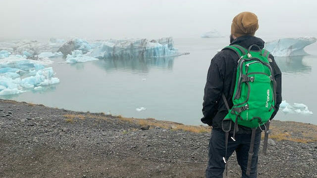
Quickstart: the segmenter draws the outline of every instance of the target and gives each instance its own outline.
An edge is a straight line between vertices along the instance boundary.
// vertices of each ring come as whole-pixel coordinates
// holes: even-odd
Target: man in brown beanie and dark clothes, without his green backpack
[[[258,28],[258,17],[254,13],[239,13],[232,21],[230,45],[237,46],[239,48],[242,46],[243,48],[241,50],[249,48],[249,51],[259,51],[258,48],[260,48],[261,51],[264,47],[264,41],[254,36]],[[203,103],[204,117],[201,119],[203,123],[212,126],[212,134],[209,143],[209,162],[206,170],[207,178],[222,178],[226,161],[233,151],[236,151],[237,161],[242,171],[242,178],[257,177],[258,153],[262,129],[260,127],[256,130],[254,129],[254,144],[250,144],[252,137],[251,128],[241,125],[230,127],[230,132],[227,133],[229,133],[229,138],[232,137],[232,139],[228,140],[226,139],[226,133],[223,131],[222,125],[222,121],[228,114],[229,108],[234,106],[232,98],[235,92],[239,58],[240,55],[237,52],[231,50],[230,48],[224,48],[212,58],[208,71]],[[271,111],[272,113],[269,118],[271,120],[278,111],[279,104],[282,101],[281,71],[271,54],[267,55],[267,58],[272,72],[271,75],[273,76],[269,77],[272,77],[273,79],[275,78],[276,81],[276,83],[274,83],[275,104],[272,104],[271,106],[274,111]],[[249,77],[248,80],[249,81],[247,82],[250,82],[252,77]],[[268,95],[269,91],[267,90],[267,98],[269,99]],[[224,101],[224,98],[226,98],[226,101]],[[239,115],[237,115],[237,118],[238,116]],[[237,123],[237,120],[235,123]],[[252,157],[251,165],[249,166],[251,171],[249,169],[248,173],[247,164],[248,156],[250,155],[250,145],[254,145],[254,148],[253,154],[250,156],[250,158]]]

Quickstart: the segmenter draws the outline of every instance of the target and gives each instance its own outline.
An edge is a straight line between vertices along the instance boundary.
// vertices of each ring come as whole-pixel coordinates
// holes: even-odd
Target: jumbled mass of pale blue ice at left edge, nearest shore
[[[19,94],[27,89],[59,83],[54,78],[51,60],[29,60],[21,55],[10,55],[0,60],[0,95]]]

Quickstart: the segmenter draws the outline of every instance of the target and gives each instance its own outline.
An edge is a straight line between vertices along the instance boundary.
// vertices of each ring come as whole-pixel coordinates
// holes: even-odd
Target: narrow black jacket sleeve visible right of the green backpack
[[[279,109],[279,105],[282,102],[282,73],[276,64],[274,57],[271,54],[269,55],[269,58],[272,59],[272,62],[270,62],[270,65],[273,68],[274,78],[276,81],[276,101],[275,101],[275,106],[274,106],[275,110],[272,113],[272,116],[270,118],[270,120],[272,120]]]

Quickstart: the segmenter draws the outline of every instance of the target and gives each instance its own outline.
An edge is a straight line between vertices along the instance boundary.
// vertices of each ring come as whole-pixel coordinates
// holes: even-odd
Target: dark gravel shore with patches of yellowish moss
[[[317,126],[271,129],[258,178],[317,178]],[[0,178],[203,178],[209,138],[204,126],[0,100]],[[228,177],[240,177],[235,155]]]

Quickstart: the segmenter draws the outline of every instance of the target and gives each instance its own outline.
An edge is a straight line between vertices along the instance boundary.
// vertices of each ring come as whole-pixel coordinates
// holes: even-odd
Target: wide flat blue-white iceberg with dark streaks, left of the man
[[[180,53],[174,48],[174,41],[171,37],[159,40],[148,39],[127,39],[108,40],[96,47],[87,55],[99,59],[104,58],[152,58],[169,57],[189,54]]]

